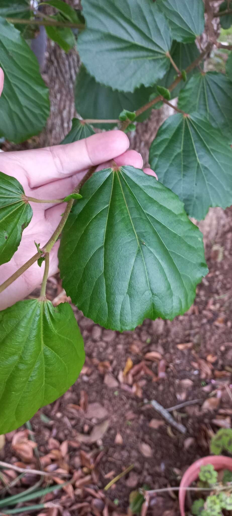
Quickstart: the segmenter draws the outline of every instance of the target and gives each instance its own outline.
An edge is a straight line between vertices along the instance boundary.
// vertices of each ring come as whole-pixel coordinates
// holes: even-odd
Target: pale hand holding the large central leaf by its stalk
[[[39,150],[7,152],[0,154],[0,171],[12,175],[23,186],[26,196],[38,199],[59,199],[69,193],[83,178],[88,168],[98,165],[97,170],[107,168],[114,159],[117,165],[142,168],[142,157],[128,151],[129,139],[121,131],[109,131],[67,145]],[[99,165],[101,164],[101,165]],[[155,175],[151,169],[148,174]],[[57,228],[66,203],[32,203],[33,216],[24,230],[21,244],[10,262],[0,267],[0,283],[3,283],[30,257],[35,254],[34,240],[43,247]],[[58,271],[59,241],[50,252],[49,276]],[[0,295],[0,310],[26,297],[43,279],[41,268],[35,262]]]

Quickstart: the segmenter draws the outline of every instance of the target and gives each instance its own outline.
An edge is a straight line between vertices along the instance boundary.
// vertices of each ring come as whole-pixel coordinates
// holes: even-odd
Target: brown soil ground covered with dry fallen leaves
[[[40,467],[51,472],[48,482],[61,482],[58,471],[70,473],[72,483],[46,495],[45,501],[58,500],[60,509],[41,514],[129,514],[132,491],[145,484],[150,489],[178,486],[186,467],[209,453],[213,432],[231,427],[231,208],[226,213],[231,223],[208,243],[209,274],[185,315],[172,322],[145,320],[120,334],[74,309],[85,342],[82,373],[64,396],[31,420]],[[48,297],[55,304],[66,300],[58,277],[49,281]],[[149,405],[152,399],[165,408],[198,400],[172,412],[186,434]],[[29,437],[25,427],[7,434],[0,460],[38,469]],[[131,464],[131,472],[104,491]],[[11,493],[35,479],[27,474]],[[148,511],[154,516],[179,514],[176,494],[153,496]]]

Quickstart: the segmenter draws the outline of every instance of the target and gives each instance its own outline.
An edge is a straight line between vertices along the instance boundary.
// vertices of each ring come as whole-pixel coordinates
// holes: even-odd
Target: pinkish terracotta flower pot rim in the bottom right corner
[[[212,464],[216,471],[232,471],[232,459],[229,457],[224,457],[223,455],[209,455],[208,457],[203,457],[203,459],[199,459],[193,462],[193,464],[188,467],[185,474],[183,475],[180,485],[181,489],[179,491],[179,504],[181,516],[185,516],[186,490],[183,488],[190,487],[191,483],[198,479],[201,466],[206,466],[207,464]]]

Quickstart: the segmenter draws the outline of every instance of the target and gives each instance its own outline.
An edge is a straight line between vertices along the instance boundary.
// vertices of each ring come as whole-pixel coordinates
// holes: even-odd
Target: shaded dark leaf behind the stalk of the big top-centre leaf
[[[200,52],[198,50],[197,45],[195,43],[179,43],[177,41],[173,41],[171,51],[170,51],[171,57],[173,61],[175,62],[176,66],[179,68],[179,70],[186,69],[191,63],[197,59],[200,55]],[[187,74],[187,81],[190,79],[190,77],[199,71],[198,68],[194,68],[191,72]],[[173,68],[173,66],[170,63],[169,71],[166,73],[164,78],[161,82],[159,82],[160,85],[165,86],[168,88],[175,79],[176,71]],[[179,95],[179,92],[183,88],[183,83],[179,83],[174,90],[171,91],[171,98],[174,98]]]

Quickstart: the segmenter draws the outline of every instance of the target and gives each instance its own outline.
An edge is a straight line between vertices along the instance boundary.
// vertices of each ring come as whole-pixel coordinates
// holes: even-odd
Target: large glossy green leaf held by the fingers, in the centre
[[[207,267],[202,235],[178,197],[133,167],[95,173],[81,194],[59,264],[84,315],[123,331],[188,310]]]

